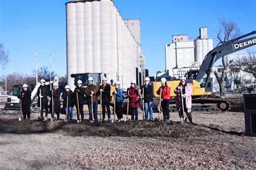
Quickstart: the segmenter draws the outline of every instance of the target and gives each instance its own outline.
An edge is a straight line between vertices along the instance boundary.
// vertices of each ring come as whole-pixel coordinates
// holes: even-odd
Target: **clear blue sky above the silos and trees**
[[[52,70],[58,76],[66,74],[66,2],[0,0],[0,43],[10,55],[0,75],[32,74],[35,51],[38,68],[49,67],[51,54]],[[140,19],[141,45],[150,76],[165,69],[165,44],[172,42],[172,35],[196,38],[199,28],[206,26],[208,37],[217,45],[220,17],[232,19],[242,33],[256,30],[255,0],[114,0],[114,5],[124,19]]]

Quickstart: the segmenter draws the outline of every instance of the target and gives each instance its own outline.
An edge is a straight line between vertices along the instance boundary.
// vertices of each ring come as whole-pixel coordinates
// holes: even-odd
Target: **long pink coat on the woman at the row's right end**
[[[180,100],[179,100],[179,93],[178,90],[180,90],[180,86],[177,86],[176,89],[174,90],[174,93],[177,94],[175,97],[175,101],[176,101],[176,108],[180,109]],[[186,107],[187,108],[191,108],[192,106],[192,97],[191,97],[191,93],[192,93],[192,89],[191,86],[189,84],[187,84],[187,86],[185,86],[185,95],[186,95]]]

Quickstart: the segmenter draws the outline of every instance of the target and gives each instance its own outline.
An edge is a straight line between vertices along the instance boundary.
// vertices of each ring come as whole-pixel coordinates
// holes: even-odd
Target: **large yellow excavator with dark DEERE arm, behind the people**
[[[205,104],[214,104],[215,108],[218,108],[221,111],[227,111],[229,108],[229,104],[225,99],[211,98],[212,82],[210,74],[212,72],[212,66],[219,58],[222,58],[223,56],[256,45],[256,37],[243,39],[245,37],[254,35],[255,33],[256,31],[252,31],[250,33],[217,45],[212,51],[207,53],[199,70],[196,67],[191,67],[190,70],[187,72],[179,71],[181,74],[179,74],[177,80],[167,80],[168,86],[171,87],[170,96],[176,96],[176,94],[174,94],[174,89],[180,83],[180,78],[186,77],[187,83],[190,84],[192,88],[192,103],[201,104],[200,108],[198,109],[207,109],[209,107]],[[184,72],[184,74],[182,74],[182,72]],[[154,81],[152,85],[153,97],[157,98],[159,97],[157,94],[157,90],[161,86],[160,81]],[[173,103],[174,101],[172,100],[170,104]],[[213,108],[212,105],[210,108]]]

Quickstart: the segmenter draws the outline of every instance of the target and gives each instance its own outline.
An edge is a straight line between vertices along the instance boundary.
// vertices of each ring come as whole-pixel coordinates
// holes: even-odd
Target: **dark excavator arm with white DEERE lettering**
[[[256,45],[256,37],[251,37],[247,39],[242,39],[255,34],[256,31],[247,33],[246,35],[234,38],[228,42],[215,47],[212,51],[208,52],[205,56],[203,63],[200,66],[199,72],[196,76],[196,80],[199,82],[201,87],[205,87],[206,92],[212,91],[212,86],[210,82],[210,73],[212,71],[213,64],[221,57],[226,56],[235,51],[245,49],[247,47]],[[242,40],[240,40],[242,39]],[[205,79],[205,74],[207,75]]]

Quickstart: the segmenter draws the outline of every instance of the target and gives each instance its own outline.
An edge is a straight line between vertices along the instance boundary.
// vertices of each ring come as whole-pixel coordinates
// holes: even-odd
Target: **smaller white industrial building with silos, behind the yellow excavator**
[[[199,29],[199,37],[188,38],[188,35],[173,35],[172,43],[165,45],[165,68],[174,76],[173,69],[199,67],[204,57],[213,49],[212,38],[207,37],[207,28]]]

